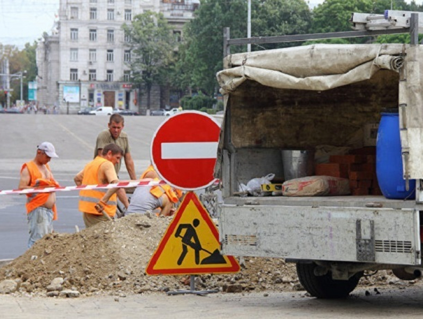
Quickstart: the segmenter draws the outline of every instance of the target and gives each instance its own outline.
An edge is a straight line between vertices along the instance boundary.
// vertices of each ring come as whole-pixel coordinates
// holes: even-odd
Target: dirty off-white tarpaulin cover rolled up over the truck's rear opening
[[[316,44],[229,55],[226,69],[216,78],[226,102],[246,80],[272,88],[323,91],[368,80],[380,69],[403,68],[407,81],[399,83],[398,102],[404,171],[412,179],[423,179],[422,60],[420,45]]]

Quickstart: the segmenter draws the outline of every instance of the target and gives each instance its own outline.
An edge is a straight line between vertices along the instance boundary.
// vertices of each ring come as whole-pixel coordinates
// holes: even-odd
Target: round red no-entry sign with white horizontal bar
[[[173,187],[193,191],[214,182],[220,126],[208,114],[183,111],[166,119],[151,141],[151,162]]]

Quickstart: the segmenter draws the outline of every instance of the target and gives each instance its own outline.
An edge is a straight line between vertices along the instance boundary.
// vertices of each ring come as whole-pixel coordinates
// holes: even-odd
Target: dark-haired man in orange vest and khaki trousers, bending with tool
[[[118,163],[123,156],[123,151],[119,145],[109,143],[102,148],[102,153],[96,156],[94,160],[88,163],[74,178],[75,184],[80,185],[98,185],[119,183],[114,165]],[[123,189],[116,189],[117,197],[128,208],[129,202]],[[116,194],[110,196],[103,202],[103,210],[106,213],[98,212],[95,208],[105,195],[106,191],[81,190],[79,193],[79,210],[83,213],[86,227],[91,227],[99,222],[107,221],[114,217],[116,213]]]

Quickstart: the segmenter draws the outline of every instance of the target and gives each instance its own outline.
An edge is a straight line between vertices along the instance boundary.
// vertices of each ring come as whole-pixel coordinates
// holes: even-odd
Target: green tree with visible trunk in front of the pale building
[[[144,86],[147,93],[147,109],[150,109],[153,84],[164,81],[165,70],[172,60],[174,38],[162,13],[145,11],[134,17],[130,25],[122,29],[129,36],[131,47],[131,80]]]

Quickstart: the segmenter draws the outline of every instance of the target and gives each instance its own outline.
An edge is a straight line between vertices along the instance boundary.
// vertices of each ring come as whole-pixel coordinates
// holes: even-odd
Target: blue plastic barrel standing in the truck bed
[[[407,191],[403,178],[398,113],[382,113],[376,142],[376,175],[386,198],[415,199],[416,180],[410,180]]]

